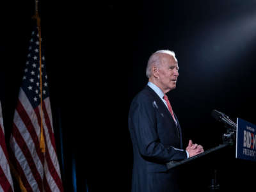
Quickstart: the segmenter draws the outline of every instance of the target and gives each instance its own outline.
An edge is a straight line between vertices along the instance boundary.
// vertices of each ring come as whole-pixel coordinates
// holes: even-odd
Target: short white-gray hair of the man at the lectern
[[[175,52],[169,51],[169,50],[159,50],[154,52],[149,60],[148,60],[148,65],[147,65],[147,70],[146,70],[146,76],[150,78],[152,76],[151,74],[151,67],[153,66],[153,63],[158,67],[161,64],[161,56],[160,54],[169,54],[170,56],[173,56],[175,58]],[[175,58],[176,60],[176,58]]]

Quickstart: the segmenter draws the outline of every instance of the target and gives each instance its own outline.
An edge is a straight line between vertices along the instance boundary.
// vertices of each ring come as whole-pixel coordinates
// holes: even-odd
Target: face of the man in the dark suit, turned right
[[[163,54],[161,64],[158,67],[159,88],[164,93],[176,88],[177,78],[179,76],[179,67],[177,60],[169,54]]]

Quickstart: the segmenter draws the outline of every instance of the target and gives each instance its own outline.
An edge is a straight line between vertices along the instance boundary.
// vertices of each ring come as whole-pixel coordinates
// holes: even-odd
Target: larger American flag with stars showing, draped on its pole
[[[63,191],[43,50],[40,54],[42,38],[38,29],[40,28],[35,25],[29,40],[28,57],[13,117],[10,159],[22,191]],[[42,81],[40,81],[40,56]],[[40,82],[42,82],[42,94]],[[40,148],[41,116],[45,152]]]

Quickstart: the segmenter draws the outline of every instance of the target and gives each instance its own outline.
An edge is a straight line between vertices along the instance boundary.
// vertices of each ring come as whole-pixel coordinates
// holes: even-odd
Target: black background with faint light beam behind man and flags
[[[177,88],[168,93],[183,130],[205,150],[221,143],[217,109],[236,121],[255,120],[256,1],[42,1],[42,37],[65,191],[130,191],[129,105],[147,84],[147,60],[175,51]],[[6,140],[26,61],[34,1],[1,3],[1,102]],[[62,164],[61,164],[62,167]],[[180,168],[184,186],[207,191],[213,170],[222,191],[253,189],[255,164],[234,148]],[[251,176],[250,176],[251,175]]]

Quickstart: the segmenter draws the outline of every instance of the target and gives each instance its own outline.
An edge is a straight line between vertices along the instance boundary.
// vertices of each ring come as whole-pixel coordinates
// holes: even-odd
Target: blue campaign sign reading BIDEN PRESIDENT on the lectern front
[[[237,118],[236,158],[256,161],[256,125]]]

